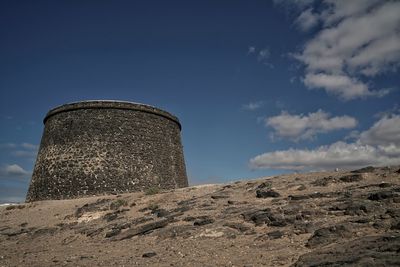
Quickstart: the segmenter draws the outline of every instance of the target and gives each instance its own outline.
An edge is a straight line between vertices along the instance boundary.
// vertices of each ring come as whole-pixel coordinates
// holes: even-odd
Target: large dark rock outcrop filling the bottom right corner
[[[399,233],[366,236],[303,254],[293,267],[400,266],[399,251]]]

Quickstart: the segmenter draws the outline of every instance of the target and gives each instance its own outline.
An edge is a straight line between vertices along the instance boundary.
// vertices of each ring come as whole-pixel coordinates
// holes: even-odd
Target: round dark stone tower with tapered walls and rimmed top
[[[27,202],[188,185],[181,125],[166,111],[85,101],[50,110],[44,125]]]

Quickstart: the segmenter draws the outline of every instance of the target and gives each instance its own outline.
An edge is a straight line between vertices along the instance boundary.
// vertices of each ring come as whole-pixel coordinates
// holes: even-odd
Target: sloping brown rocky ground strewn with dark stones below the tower
[[[0,208],[0,266],[400,266],[400,169]]]

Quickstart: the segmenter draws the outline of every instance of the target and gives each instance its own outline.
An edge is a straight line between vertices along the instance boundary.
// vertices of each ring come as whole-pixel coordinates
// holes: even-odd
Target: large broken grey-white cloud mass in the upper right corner
[[[343,100],[387,94],[368,79],[400,65],[400,1],[325,0],[318,12],[300,2],[299,28],[320,25],[293,55],[305,66],[304,84]]]

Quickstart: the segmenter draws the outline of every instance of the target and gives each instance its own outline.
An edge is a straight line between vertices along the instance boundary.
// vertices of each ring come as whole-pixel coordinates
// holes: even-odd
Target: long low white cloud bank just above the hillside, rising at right
[[[250,160],[254,169],[320,170],[400,163],[400,115],[384,117],[354,143],[336,142],[315,149],[267,152]]]

